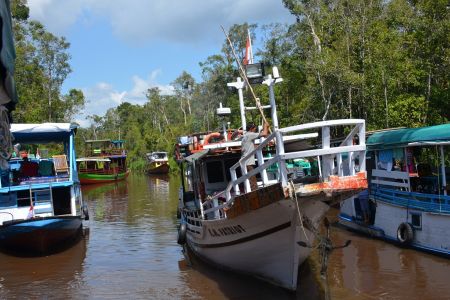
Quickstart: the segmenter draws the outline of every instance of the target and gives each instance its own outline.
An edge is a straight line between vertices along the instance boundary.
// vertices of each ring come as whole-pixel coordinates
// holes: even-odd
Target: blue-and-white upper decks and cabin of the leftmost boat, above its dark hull
[[[11,133],[22,149],[1,171],[0,225],[35,216],[76,215],[81,194],[78,182],[74,135],[68,123],[12,124]],[[47,148],[48,151],[38,149]],[[47,153],[50,153],[47,155]]]

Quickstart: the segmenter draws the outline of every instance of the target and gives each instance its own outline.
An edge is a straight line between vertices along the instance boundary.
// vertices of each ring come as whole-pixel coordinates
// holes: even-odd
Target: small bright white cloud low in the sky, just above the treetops
[[[94,114],[103,116],[108,109],[117,107],[122,102],[143,105],[147,102],[145,94],[149,88],[157,87],[163,95],[173,93],[174,89],[172,86],[156,83],[159,73],[159,70],[153,71],[147,79],[134,75],[132,77],[133,87],[129,91],[117,91],[111,84],[106,82],[99,82],[92,87],[83,88],[86,105],[84,112],[76,117],[76,122],[83,127],[89,126],[88,116]]]

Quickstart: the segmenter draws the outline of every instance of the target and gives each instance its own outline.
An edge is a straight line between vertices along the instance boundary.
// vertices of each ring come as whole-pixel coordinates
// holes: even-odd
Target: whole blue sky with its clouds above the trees
[[[83,90],[77,121],[123,101],[145,103],[145,91],[183,71],[201,80],[199,62],[217,54],[226,29],[244,22],[291,23],[281,0],[28,0],[30,17],[65,36],[73,72],[63,86]],[[257,44],[257,41],[255,41]]]

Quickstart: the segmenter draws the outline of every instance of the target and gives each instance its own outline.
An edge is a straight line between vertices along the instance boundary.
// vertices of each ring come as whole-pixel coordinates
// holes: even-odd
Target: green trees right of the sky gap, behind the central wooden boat
[[[262,26],[263,48],[256,52],[266,71],[278,66],[283,76],[275,88],[281,126],[336,118],[366,119],[368,129],[447,122],[450,23],[445,1],[283,3],[297,22]],[[247,23],[229,29],[239,61],[247,31],[255,39],[257,29]],[[172,83],[173,95],[151,89],[144,106],[124,103],[101,120],[93,119],[94,127],[111,135],[117,133],[111,124],[119,124],[132,139],[130,159],[136,162],[145,152],[172,153],[178,136],[220,130],[215,117],[219,103],[231,108],[231,127],[240,127],[237,93],[226,86],[239,76],[228,42],[224,39],[221,53],[200,67],[203,82],[183,71]],[[267,86],[253,88],[268,104]],[[254,106],[248,89],[244,98],[246,106]],[[246,115],[248,121],[261,122],[257,111]]]

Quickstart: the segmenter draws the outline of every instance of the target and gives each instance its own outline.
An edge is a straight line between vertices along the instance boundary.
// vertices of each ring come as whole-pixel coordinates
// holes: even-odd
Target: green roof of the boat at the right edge
[[[373,133],[366,141],[367,150],[382,150],[450,142],[450,123],[420,128],[404,128]]]

